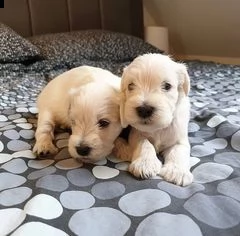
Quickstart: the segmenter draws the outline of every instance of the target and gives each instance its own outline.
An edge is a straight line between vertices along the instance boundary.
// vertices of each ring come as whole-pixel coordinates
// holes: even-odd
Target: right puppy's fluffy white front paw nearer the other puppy
[[[129,166],[129,171],[137,178],[148,179],[160,174],[162,163],[158,158],[138,158]]]

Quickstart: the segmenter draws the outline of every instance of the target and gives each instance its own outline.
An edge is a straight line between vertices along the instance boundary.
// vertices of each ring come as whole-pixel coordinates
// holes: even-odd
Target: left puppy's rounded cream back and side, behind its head
[[[120,78],[111,72],[90,66],[80,66],[57,76],[50,81],[40,93],[37,106],[40,111],[50,111],[56,118],[63,118],[60,123],[66,123],[70,105],[70,91],[81,86],[101,80],[116,91],[120,90]]]

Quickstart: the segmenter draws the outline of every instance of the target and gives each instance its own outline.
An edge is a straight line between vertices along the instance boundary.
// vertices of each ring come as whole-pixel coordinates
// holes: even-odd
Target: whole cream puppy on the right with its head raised
[[[129,170],[135,176],[160,174],[183,186],[193,181],[189,165],[189,89],[186,67],[166,55],[145,54],[125,68],[121,122],[123,127],[134,128],[128,143],[117,139],[114,151],[131,161]],[[163,167],[156,153],[162,154]]]

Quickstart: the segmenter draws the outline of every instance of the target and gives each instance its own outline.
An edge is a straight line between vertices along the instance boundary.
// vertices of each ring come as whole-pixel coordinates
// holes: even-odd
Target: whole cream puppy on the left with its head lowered
[[[121,132],[121,79],[107,70],[81,66],[53,79],[38,97],[37,155],[57,152],[54,128],[69,127],[69,153],[83,162],[108,155]]]

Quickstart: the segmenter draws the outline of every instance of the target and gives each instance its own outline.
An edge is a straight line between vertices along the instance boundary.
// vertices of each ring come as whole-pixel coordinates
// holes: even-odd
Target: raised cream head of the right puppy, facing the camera
[[[137,57],[125,68],[122,77],[122,126],[132,125],[143,132],[168,127],[189,88],[189,76],[183,64],[161,54]]]

